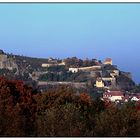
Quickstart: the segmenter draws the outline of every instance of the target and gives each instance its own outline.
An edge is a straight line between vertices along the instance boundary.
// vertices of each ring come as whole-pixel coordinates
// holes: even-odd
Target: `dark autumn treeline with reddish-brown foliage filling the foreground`
[[[59,86],[37,93],[0,77],[0,136],[140,136],[140,105],[121,108]]]

